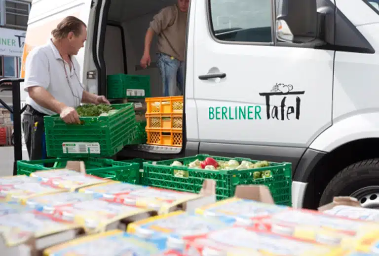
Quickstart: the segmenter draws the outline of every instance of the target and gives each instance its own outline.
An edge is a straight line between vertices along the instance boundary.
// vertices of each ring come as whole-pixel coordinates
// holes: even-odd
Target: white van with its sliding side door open
[[[77,59],[90,92],[106,95],[109,74],[148,74],[161,96],[158,69],[139,62],[152,16],[175,2],[33,0],[23,61],[74,15],[88,26]],[[183,148],[120,157],[289,161],[294,207],[335,195],[378,207],[378,9],[379,0],[191,0]]]

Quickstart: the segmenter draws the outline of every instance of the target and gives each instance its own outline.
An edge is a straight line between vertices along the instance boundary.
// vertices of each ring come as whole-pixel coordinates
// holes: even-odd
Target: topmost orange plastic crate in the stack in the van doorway
[[[183,96],[145,98],[147,114],[183,113]]]

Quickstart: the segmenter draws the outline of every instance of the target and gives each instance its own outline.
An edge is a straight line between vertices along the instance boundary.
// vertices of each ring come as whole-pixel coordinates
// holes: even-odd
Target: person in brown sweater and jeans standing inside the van
[[[150,46],[156,34],[157,66],[162,77],[163,96],[175,96],[177,85],[183,95],[188,7],[189,0],[178,0],[176,4],[161,9],[146,32],[141,66],[146,68],[151,63]]]

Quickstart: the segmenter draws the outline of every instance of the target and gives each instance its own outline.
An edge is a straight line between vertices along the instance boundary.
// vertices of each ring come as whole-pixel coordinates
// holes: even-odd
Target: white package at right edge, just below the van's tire
[[[324,213],[349,219],[379,222],[379,210],[377,209],[336,205]]]

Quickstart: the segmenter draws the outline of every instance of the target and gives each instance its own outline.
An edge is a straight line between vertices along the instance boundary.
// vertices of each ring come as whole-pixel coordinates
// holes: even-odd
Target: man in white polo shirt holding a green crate
[[[86,25],[73,16],[64,18],[52,38],[33,49],[25,64],[27,108],[22,121],[30,160],[46,158],[43,117],[59,114],[68,124],[80,123],[80,103],[109,104],[105,96],[90,94],[79,79],[76,55],[87,38]]]

